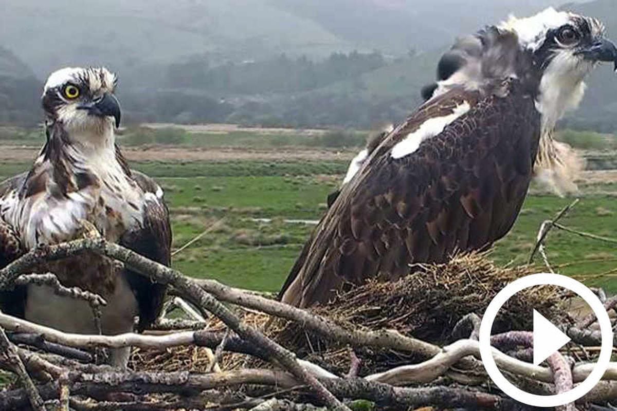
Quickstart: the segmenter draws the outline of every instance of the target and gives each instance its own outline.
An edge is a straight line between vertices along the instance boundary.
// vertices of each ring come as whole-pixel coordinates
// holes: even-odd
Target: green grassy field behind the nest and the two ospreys
[[[319,219],[326,196],[346,169],[344,161],[151,161],[132,166],[155,176],[164,187],[172,211],[175,250],[209,230],[176,254],[176,268],[194,277],[262,291],[278,290],[314,227],[284,220]],[[5,164],[0,176],[10,176],[26,167],[27,163]],[[610,181],[583,187],[581,201],[561,220],[562,224],[617,237],[616,192],[617,184]],[[529,195],[514,229],[492,251],[495,262],[524,264],[540,223],[572,200]],[[550,262],[563,274],[590,277],[589,285],[599,284],[617,292],[617,282],[611,280],[610,273],[601,279],[593,277],[617,267],[614,244],[553,230],[547,251]],[[537,261],[540,263],[540,258]]]

